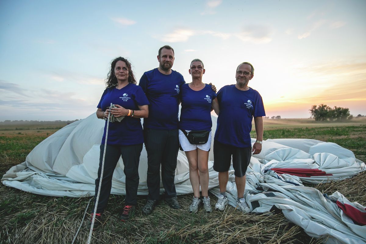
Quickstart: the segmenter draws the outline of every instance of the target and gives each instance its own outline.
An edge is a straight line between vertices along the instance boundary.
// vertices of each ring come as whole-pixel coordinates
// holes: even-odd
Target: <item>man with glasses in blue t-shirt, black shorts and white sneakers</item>
[[[241,63],[236,68],[236,84],[224,86],[217,93],[220,113],[214,136],[213,169],[219,172],[221,193],[215,205],[216,210],[223,211],[228,204],[226,185],[232,157],[238,191],[237,208],[244,213],[251,211],[244,198],[245,173],[250,163],[251,153],[259,154],[262,150],[262,116],[265,116],[261,95],[248,86],[253,76],[253,65],[248,62]],[[253,117],[257,140],[252,149],[250,131]]]

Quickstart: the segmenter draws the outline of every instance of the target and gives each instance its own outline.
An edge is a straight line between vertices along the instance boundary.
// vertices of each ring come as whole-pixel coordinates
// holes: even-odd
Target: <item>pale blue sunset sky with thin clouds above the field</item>
[[[187,83],[193,59],[217,89],[253,64],[269,117],[319,104],[366,115],[365,13],[365,0],[0,0],[0,121],[84,119],[115,57],[139,81],[164,45]]]

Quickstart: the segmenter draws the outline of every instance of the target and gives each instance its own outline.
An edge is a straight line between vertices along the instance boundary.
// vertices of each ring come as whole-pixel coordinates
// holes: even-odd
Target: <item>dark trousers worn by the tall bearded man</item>
[[[175,191],[174,176],[179,150],[178,129],[145,129],[145,146],[147,152],[146,181],[149,189],[147,199],[159,200],[160,165],[165,197],[175,197],[177,193]]]

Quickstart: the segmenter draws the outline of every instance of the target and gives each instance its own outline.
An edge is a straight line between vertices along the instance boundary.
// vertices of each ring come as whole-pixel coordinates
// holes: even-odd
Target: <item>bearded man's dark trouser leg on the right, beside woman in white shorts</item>
[[[164,153],[161,164],[161,178],[165,189],[166,198],[174,198],[177,193],[175,191],[174,177],[177,168],[177,157],[179,150],[178,129],[168,131],[168,138],[163,144]]]

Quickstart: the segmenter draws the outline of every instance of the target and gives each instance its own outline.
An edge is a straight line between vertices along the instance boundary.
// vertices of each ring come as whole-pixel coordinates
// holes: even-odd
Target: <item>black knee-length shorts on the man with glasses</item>
[[[231,155],[235,176],[243,177],[250,163],[251,147],[235,147],[213,141],[213,169],[216,172],[229,171]]]

